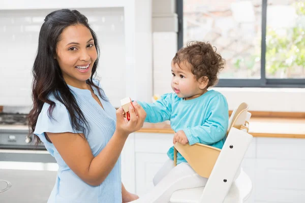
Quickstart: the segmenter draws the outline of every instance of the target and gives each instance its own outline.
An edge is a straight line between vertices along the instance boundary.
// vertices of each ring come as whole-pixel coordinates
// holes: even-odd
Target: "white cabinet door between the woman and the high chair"
[[[173,146],[173,134],[136,133],[136,193],[142,195],[152,187],[153,178],[163,163],[168,159],[167,151]]]

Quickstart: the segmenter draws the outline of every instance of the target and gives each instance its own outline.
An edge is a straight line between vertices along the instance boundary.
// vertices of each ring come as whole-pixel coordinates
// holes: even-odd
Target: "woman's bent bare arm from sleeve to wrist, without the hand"
[[[126,134],[115,131],[106,147],[94,157],[83,134],[48,132],[47,135],[71,170],[93,186],[100,185],[106,179],[127,139]]]

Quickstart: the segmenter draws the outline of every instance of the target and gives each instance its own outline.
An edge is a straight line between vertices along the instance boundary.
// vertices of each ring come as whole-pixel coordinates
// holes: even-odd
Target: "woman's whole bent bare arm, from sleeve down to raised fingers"
[[[138,116],[131,107],[130,121],[123,117],[122,108],[116,111],[116,130],[106,147],[96,157],[83,134],[78,136],[71,132],[47,132],[47,135],[71,170],[87,184],[98,186],[114,167],[128,135],[143,126],[145,111],[139,105],[134,106]]]

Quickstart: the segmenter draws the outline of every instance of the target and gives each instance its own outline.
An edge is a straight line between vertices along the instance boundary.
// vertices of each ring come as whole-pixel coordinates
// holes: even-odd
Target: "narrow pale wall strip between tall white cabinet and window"
[[[174,0],[153,1],[154,94],[172,92],[171,60],[178,47],[178,20],[175,12]]]

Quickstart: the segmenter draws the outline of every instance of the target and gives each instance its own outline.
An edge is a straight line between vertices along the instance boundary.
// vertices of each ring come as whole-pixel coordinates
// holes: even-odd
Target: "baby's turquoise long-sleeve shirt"
[[[161,96],[155,103],[138,101],[146,111],[145,122],[158,123],[170,120],[171,128],[177,132],[184,130],[190,145],[201,143],[222,148],[229,123],[228,103],[224,95],[209,90],[203,95],[185,100],[175,93]],[[174,159],[174,147],[167,155]],[[187,162],[177,153],[177,163]]]

